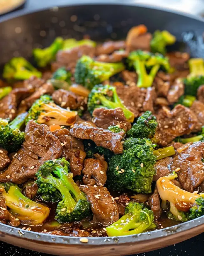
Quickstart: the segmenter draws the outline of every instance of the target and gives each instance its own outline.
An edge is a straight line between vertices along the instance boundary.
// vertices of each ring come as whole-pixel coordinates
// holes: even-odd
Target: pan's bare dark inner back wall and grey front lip
[[[142,23],[148,27],[149,32],[154,32],[156,29],[170,31],[180,42],[176,47],[183,46],[184,50],[191,51],[193,57],[204,58],[202,37],[204,22],[184,14],[136,6],[135,4],[87,4],[59,9],[52,8],[21,16],[22,13],[22,11],[17,14],[11,13],[9,19],[0,19],[2,21],[0,23],[0,68],[13,56],[31,58],[33,48],[48,46],[56,36],[81,39],[84,35],[90,35],[91,39],[96,41],[117,40],[124,38],[129,28]],[[131,243],[168,236],[203,223],[204,218],[202,217],[176,227],[156,230],[140,236],[121,237],[120,239],[114,237],[110,239],[90,238],[89,240],[93,245]],[[18,228],[11,228],[4,224],[0,224],[0,231],[50,243],[80,243],[77,237],[36,235],[29,231],[20,232]]]

